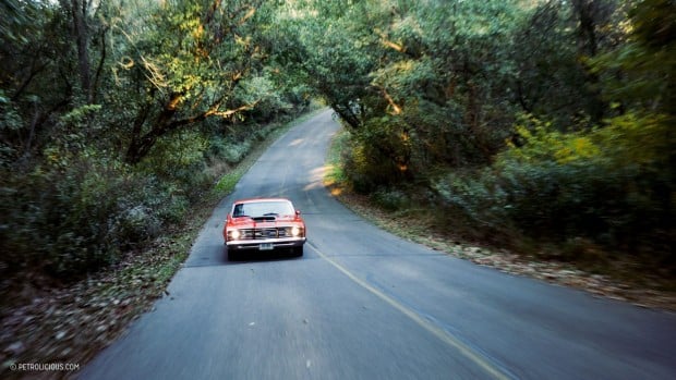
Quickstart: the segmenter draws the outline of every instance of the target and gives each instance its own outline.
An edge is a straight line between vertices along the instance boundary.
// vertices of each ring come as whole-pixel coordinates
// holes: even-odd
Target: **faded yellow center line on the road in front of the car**
[[[479,367],[481,367],[485,372],[487,372],[494,379],[498,379],[498,380],[509,380],[509,379],[511,379],[511,377],[509,377],[506,373],[504,373],[504,371],[502,371],[499,368],[497,368],[494,364],[492,364],[488,360],[486,360],[485,358],[483,358],[481,355],[474,353],[474,351],[472,348],[470,348],[467,344],[460,342],[457,338],[455,338],[451,334],[449,334],[446,330],[440,329],[439,327],[431,323],[427,319],[421,317],[415,311],[413,311],[410,308],[406,307],[405,305],[402,305],[401,303],[397,302],[396,299],[394,299],[393,297],[388,296],[387,294],[381,292],[376,287],[370,285],[367,282],[361,280],[360,278],[354,275],[352,272],[350,272],[347,268],[345,268],[343,266],[341,266],[340,263],[338,263],[337,261],[331,259],[329,256],[327,256],[324,253],[322,253],[317,247],[315,247],[310,242],[307,242],[307,245],[314,252],[316,252],[317,255],[319,255],[321,258],[323,258],[328,263],[334,266],[336,269],[341,271],[345,275],[347,275],[354,283],[357,283],[358,285],[364,287],[365,290],[367,290],[370,293],[372,293],[376,297],[383,299],[384,302],[389,304],[395,309],[401,311],[405,316],[407,316],[409,319],[411,319],[412,321],[418,323],[420,327],[422,327],[423,329],[427,330],[428,332],[431,332],[432,334],[437,336],[442,342],[444,342],[444,343],[450,345],[451,347],[456,348],[461,355],[463,355],[468,359],[472,360],[474,364],[476,364]]]

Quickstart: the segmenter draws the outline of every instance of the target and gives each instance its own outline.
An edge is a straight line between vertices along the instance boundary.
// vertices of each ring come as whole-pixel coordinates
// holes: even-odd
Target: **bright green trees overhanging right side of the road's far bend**
[[[309,1],[280,16],[292,38],[285,58],[354,130],[355,188],[490,161],[511,128],[502,62],[518,11],[516,1]]]

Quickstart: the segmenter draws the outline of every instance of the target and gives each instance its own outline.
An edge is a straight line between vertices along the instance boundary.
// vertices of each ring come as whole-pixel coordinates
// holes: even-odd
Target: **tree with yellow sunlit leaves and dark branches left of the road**
[[[181,127],[255,106],[240,102],[237,91],[267,58],[256,34],[266,23],[264,4],[165,2],[150,11],[141,30],[128,34],[116,71],[138,101],[130,105],[135,115],[125,130],[126,162],[140,162],[158,138]]]

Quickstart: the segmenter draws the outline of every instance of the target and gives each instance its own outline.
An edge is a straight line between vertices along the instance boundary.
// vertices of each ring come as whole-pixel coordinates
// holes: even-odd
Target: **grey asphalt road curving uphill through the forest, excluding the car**
[[[289,131],[201,232],[169,296],[82,379],[676,379],[676,315],[505,274],[403,241],[322,185],[338,130]],[[234,198],[302,210],[301,258],[231,262]]]

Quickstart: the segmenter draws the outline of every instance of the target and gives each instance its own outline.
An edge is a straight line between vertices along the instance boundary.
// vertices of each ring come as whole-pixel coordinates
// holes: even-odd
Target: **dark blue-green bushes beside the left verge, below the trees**
[[[7,174],[0,192],[0,266],[44,268],[68,279],[116,262],[182,220],[188,199],[155,176],[74,160],[29,175]]]

